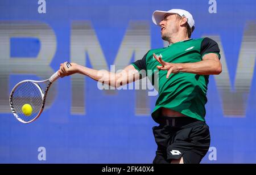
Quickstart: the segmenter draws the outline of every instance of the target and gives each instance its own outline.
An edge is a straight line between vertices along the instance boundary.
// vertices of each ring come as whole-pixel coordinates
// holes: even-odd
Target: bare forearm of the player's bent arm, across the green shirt
[[[221,73],[221,63],[212,59],[195,63],[178,63],[180,72],[189,72],[199,75],[216,75]]]

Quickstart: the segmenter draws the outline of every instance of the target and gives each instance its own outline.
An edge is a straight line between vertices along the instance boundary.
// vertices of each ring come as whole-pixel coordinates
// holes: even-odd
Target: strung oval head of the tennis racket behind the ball
[[[30,116],[23,113],[22,106],[24,104],[32,106]],[[24,122],[32,121],[42,108],[42,90],[32,82],[20,83],[13,93],[13,107],[18,117]]]

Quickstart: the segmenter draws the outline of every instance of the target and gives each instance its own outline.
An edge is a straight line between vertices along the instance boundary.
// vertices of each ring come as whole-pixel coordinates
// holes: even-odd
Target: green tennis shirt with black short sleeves
[[[156,68],[160,63],[156,61],[153,53],[170,63],[199,62],[208,53],[216,53],[220,58],[217,42],[209,38],[176,42],[167,48],[149,50],[142,59],[131,64],[138,71],[145,70],[147,76],[158,74],[159,96],[152,112],[152,118],[156,122],[159,122],[161,116],[160,108],[172,109],[188,117],[205,121],[209,75],[179,72],[172,73],[167,79],[167,70],[158,71]]]

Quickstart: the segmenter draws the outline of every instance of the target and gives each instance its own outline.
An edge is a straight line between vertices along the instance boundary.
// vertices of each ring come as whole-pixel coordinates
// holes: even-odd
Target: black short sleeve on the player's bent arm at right
[[[216,41],[206,37],[201,42],[201,57],[203,58],[205,54],[208,53],[215,53],[218,56],[218,59],[221,58],[220,56],[220,48],[218,48],[218,44]]]

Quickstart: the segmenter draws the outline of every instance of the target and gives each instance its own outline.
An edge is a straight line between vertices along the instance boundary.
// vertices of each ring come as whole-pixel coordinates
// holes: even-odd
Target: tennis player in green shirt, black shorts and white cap
[[[153,163],[200,163],[210,145],[205,123],[209,75],[220,74],[220,49],[209,38],[191,39],[195,29],[192,15],[185,10],[155,11],[152,20],[160,26],[166,48],[149,50],[145,56],[117,74],[71,63],[60,65],[61,77],[75,73],[119,87],[158,74],[159,97],[152,118],[158,150]]]

